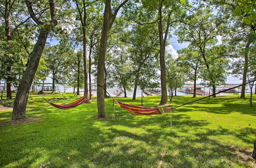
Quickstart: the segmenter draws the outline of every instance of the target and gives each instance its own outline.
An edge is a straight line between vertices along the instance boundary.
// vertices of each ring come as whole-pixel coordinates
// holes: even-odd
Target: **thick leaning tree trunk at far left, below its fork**
[[[26,106],[28,101],[29,89],[35,76],[36,69],[38,67],[42,50],[45,47],[49,29],[41,27],[38,40],[31,53],[28,66],[22,80],[18,86],[18,92],[14,100],[14,106],[12,111],[12,120],[26,119]]]

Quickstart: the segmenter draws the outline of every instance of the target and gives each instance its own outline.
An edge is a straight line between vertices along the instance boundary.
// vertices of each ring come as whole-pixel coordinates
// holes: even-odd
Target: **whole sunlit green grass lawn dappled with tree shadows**
[[[60,95],[46,95],[46,98]],[[61,95],[63,96],[63,95]],[[61,97],[60,96],[60,97]],[[69,100],[74,100],[72,94]],[[0,125],[1,167],[255,167],[249,156],[256,135],[256,95],[221,95],[172,113],[136,116],[115,105],[115,120],[98,120],[96,100],[62,110],[32,95],[27,117],[36,123]],[[140,99],[117,98],[140,105]],[[177,96],[172,106],[195,100]],[[144,98],[156,106],[160,97]],[[105,99],[113,114],[112,99]],[[0,111],[0,122],[11,111]]]

